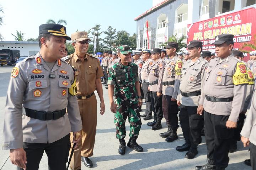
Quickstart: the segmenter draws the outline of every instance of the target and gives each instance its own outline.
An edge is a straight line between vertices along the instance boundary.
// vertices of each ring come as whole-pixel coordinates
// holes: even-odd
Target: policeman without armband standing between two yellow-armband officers
[[[201,81],[208,62],[200,57],[203,48],[201,41],[191,41],[187,48],[191,60],[182,67],[180,94],[177,99],[177,104],[180,105],[180,124],[185,144],[176,147],[176,150],[180,152],[188,150],[185,157],[193,159],[198,153],[197,145],[202,142],[203,117],[197,114],[197,107],[203,88]]]

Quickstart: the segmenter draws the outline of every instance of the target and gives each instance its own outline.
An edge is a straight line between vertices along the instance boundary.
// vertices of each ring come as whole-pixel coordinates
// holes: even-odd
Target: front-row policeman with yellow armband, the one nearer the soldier
[[[160,133],[161,137],[165,137],[166,142],[173,142],[178,139],[177,129],[178,125],[178,105],[177,95],[180,86],[180,75],[182,68],[182,61],[177,56],[178,43],[169,42],[167,46],[167,55],[169,61],[165,65],[164,75],[162,79],[162,108],[167,125],[167,131]]]

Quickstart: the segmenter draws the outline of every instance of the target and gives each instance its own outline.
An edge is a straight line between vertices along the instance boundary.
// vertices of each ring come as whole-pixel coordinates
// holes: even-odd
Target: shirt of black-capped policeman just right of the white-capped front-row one
[[[162,92],[162,78],[164,74],[165,64],[162,59],[153,62],[149,73],[149,83],[156,82],[157,84],[149,86],[151,92]]]

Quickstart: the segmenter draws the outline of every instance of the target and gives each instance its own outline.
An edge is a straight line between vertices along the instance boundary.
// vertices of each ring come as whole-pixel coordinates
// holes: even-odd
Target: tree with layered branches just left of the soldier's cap
[[[104,31],[104,34],[106,34],[106,37],[103,39],[103,42],[105,43],[105,47],[109,50],[113,50],[113,46],[116,43],[116,28],[112,28],[111,26],[108,26],[107,31]]]

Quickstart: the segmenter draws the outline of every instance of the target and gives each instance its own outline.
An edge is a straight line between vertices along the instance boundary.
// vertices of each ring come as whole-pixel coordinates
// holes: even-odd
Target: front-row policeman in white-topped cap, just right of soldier
[[[153,60],[151,60],[151,51],[148,49],[144,49],[142,51],[142,59],[143,65],[142,65],[142,70],[141,70],[141,79],[142,79],[142,90],[144,93],[144,99],[146,103],[146,110],[143,115],[140,117],[144,117],[144,120],[150,120],[152,119],[152,104],[151,104],[151,98],[150,98],[150,92],[148,90],[149,87],[149,72],[151,69],[151,65],[153,64]]]

